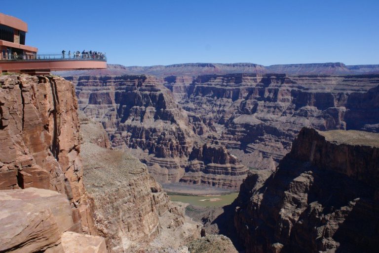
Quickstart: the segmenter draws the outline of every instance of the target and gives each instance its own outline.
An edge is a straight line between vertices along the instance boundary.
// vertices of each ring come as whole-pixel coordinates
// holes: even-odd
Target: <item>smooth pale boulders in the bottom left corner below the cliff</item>
[[[0,207],[1,252],[107,252],[104,238],[69,232],[75,229],[70,204],[57,191],[0,190]]]

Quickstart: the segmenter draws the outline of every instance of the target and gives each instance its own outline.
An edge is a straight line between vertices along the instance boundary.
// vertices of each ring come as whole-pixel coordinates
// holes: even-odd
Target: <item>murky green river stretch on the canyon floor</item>
[[[172,201],[180,201],[195,206],[225,206],[231,204],[238,196],[238,193],[226,195],[209,195],[209,196],[189,196],[179,194],[168,194]],[[190,210],[189,210],[190,211]]]

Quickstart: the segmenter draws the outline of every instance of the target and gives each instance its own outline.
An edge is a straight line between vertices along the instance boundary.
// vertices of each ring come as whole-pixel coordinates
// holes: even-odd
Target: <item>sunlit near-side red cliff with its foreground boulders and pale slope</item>
[[[71,82],[5,75],[0,85],[0,251],[154,252],[199,237],[145,164],[79,120]]]

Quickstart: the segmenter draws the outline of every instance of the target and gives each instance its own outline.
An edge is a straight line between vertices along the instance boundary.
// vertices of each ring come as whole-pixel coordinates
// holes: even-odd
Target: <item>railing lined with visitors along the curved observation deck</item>
[[[48,55],[3,55],[0,54],[0,61],[107,61],[105,54],[48,54]]]

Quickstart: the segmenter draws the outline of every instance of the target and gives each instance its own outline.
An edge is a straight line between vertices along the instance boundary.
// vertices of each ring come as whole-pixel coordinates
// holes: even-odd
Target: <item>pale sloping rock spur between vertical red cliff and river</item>
[[[84,185],[95,199],[96,227],[111,252],[143,250],[153,241],[157,247],[173,245],[172,238],[179,247],[200,235],[199,225],[170,202],[145,164],[102,147],[98,140],[105,131],[98,123],[82,118],[81,124]],[[165,238],[170,231],[175,232]]]

